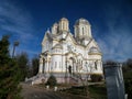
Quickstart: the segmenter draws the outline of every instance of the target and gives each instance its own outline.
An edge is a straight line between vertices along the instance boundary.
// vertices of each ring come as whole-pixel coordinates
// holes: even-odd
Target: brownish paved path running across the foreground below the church
[[[23,88],[21,96],[24,99],[86,99],[77,95],[67,95],[62,92],[50,91],[28,84],[21,85]]]

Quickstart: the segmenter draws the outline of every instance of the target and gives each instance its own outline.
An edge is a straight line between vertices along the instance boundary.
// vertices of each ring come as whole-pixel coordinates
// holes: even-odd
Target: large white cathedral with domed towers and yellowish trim
[[[54,75],[57,82],[65,82],[77,74],[102,75],[102,54],[92,37],[91,25],[86,19],[75,22],[74,33],[69,21],[62,18],[47,30],[42,41],[38,74],[47,78]]]

